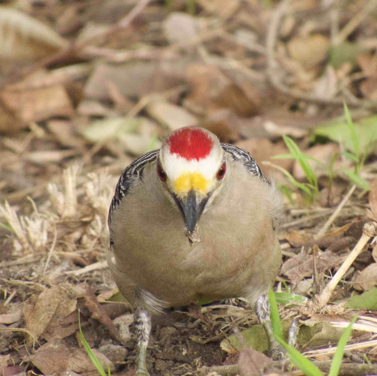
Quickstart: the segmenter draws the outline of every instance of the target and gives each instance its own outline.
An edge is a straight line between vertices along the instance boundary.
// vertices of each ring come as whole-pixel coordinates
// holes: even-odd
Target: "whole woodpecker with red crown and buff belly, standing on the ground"
[[[137,376],[149,375],[151,316],[167,307],[243,297],[273,337],[268,291],[282,262],[281,202],[251,155],[207,129],[180,128],[121,175],[109,211],[108,263],[134,306]]]

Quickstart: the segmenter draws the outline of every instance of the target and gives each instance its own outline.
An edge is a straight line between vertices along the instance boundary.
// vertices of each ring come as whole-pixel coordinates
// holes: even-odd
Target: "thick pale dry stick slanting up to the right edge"
[[[343,262],[342,266],[340,266],[339,270],[336,272],[334,277],[330,280],[327,286],[323,289],[319,297],[316,297],[313,301],[313,304],[318,306],[319,308],[323,308],[327,302],[329,301],[332,292],[334,291],[336,285],[342,279],[343,275],[347,271],[347,269],[351,266],[352,262],[359,256],[360,252],[365,247],[366,243],[368,243],[369,239],[372,236],[377,235],[377,223],[376,222],[368,222],[363,227],[363,234],[360,237],[359,241],[355,245],[355,248],[351,251],[348,255],[346,260]]]

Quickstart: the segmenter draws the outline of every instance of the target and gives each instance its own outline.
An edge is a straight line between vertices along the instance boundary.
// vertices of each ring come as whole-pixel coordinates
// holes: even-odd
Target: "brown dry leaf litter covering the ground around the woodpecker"
[[[327,17],[326,5],[310,1],[200,0],[195,14],[187,12],[188,3],[0,8],[7,44],[0,62],[0,374],[96,372],[78,335],[78,309],[83,334],[104,369],[135,373],[131,307],[104,260],[107,211],[124,167],[185,125],[205,126],[221,141],[250,151],[286,194],[276,299],[285,330],[300,319],[297,349],[328,371],[332,346],[356,313],[348,363],[339,374],[352,367],[354,374],[370,373],[356,361],[363,355],[371,367],[377,362],[375,244],[360,249],[330,303],[313,304],[363,226],[377,218],[371,102],[371,30],[377,25],[369,2],[362,18],[353,4],[336,9],[342,27]],[[358,176],[368,181],[368,194],[351,191],[354,175],[343,173],[351,171],[356,152],[343,102],[353,106],[357,148],[367,151]],[[305,202],[281,173],[305,183],[297,161],[271,160],[288,153],[283,135],[309,158],[320,193],[313,202]],[[279,362],[273,370],[262,366],[267,338],[250,308],[232,299],[197,314],[182,307],[158,318],[149,369],[244,376],[254,374],[257,363],[264,374],[296,372],[283,371]],[[242,348],[231,333],[235,326]]]

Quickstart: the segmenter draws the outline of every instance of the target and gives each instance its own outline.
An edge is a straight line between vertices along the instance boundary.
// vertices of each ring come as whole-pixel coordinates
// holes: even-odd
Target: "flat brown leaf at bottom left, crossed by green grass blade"
[[[92,351],[105,370],[108,367],[110,371],[114,370],[113,363],[105,355],[96,349]],[[58,374],[63,371],[80,373],[97,371],[84,349],[68,348],[61,339],[52,339],[41,346],[30,358],[35,367],[45,375]]]

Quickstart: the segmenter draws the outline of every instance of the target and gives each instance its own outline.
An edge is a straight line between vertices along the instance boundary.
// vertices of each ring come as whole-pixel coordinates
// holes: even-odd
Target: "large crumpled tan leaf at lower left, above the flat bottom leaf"
[[[60,320],[74,312],[76,304],[76,294],[69,283],[46,289],[38,296],[35,304],[24,305],[22,312],[26,329],[39,338],[48,326],[57,326]]]

